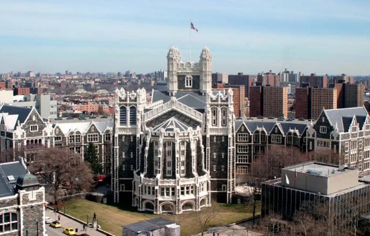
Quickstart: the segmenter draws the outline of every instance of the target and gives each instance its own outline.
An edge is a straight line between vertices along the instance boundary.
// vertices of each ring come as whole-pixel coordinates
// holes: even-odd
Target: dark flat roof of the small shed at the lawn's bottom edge
[[[171,220],[167,220],[163,217],[157,217],[148,219],[145,221],[140,221],[131,225],[125,225],[123,226],[125,229],[131,230],[134,233],[139,233],[140,231],[149,231],[156,229],[161,229],[165,227],[166,225],[174,224],[175,222]]]

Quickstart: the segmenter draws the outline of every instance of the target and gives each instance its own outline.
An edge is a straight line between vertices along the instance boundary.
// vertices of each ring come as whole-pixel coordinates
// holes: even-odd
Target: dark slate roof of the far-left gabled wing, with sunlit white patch
[[[1,114],[4,113],[10,115],[9,117],[7,117],[6,120],[7,122],[6,125],[10,129],[15,129],[17,121],[19,121],[20,124],[23,124],[26,121],[28,115],[31,113],[31,110],[32,110],[31,108],[16,107],[6,104],[1,105],[0,107]]]

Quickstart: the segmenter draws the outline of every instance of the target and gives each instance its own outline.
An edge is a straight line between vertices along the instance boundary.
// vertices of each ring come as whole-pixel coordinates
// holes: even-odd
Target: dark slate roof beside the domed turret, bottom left
[[[0,164],[0,197],[14,195],[14,188],[19,176],[26,173],[26,168],[20,162]],[[13,179],[10,177],[13,176]]]

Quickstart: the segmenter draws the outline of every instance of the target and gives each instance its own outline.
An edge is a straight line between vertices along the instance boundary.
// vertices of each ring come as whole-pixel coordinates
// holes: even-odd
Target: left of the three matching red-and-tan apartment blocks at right
[[[287,87],[251,86],[249,116],[288,117]]]

